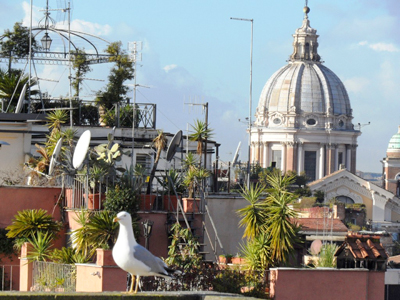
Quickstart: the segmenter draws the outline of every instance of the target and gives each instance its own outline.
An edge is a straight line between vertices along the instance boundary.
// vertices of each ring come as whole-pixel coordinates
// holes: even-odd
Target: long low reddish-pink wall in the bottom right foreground
[[[273,268],[270,276],[270,295],[275,300],[384,299],[385,272]]]

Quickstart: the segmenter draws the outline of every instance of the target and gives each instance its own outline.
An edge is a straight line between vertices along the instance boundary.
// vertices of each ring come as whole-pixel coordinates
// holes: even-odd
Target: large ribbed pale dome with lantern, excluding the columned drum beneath
[[[318,35],[308,10],[293,35],[289,63],[265,84],[256,112],[256,125],[266,127],[353,130],[352,109],[342,81],[322,65]]]

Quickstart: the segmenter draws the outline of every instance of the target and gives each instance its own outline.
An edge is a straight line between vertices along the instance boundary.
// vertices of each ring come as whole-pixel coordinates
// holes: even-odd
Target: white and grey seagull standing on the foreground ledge
[[[135,277],[134,293],[136,294],[140,276],[171,278],[172,275],[181,273],[168,268],[165,262],[136,242],[132,229],[132,218],[129,213],[121,211],[113,221],[119,223],[119,233],[112,255],[117,266],[132,275],[132,283],[128,293],[133,292]]]

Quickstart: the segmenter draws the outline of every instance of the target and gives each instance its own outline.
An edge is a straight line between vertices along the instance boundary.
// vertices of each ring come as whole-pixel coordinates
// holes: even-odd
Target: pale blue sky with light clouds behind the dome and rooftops
[[[67,7],[49,0],[51,9]],[[220,159],[230,161],[242,142],[239,159],[247,160],[251,23],[254,20],[252,118],[268,78],[287,64],[292,34],[302,24],[303,0],[71,0],[71,29],[110,42],[142,41],[137,66],[138,103],[157,104],[157,128],[175,133],[196,119],[209,104],[209,127],[221,144]],[[45,0],[33,0],[33,25],[42,18]],[[324,65],[343,81],[361,124],[357,169],[381,172],[390,138],[400,124],[400,1],[309,0],[311,27],[317,29]],[[30,2],[1,0],[0,33],[17,21],[29,26]],[[59,26],[67,17],[51,12]],[[100,49],[105,49],[105,43]],[[56,44],[54,44],[56,45]],[[111,64],[93,67],[89,78],[106,80]],[[5,67],[0,63],[0,67]],[[19,65],[18,67],[23,67]],[[42,91],[67,96],[65,67],[40,66]],[[133,83],[133,82],[131,82]],[[85,81],[81,95],[93,98],[106,81]],[[239,119],[241,121],[239,121]],[[370,122],[370,125],[366,125]]]

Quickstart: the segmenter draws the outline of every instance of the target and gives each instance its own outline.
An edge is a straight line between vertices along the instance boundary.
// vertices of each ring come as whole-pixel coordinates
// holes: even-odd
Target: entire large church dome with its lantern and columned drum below
[[[347,91],[318,54],[317,31],[304,8],[286,66],[265,84],[251,128],[250,161],[317,180],[344,165],[356,171],[357,138]]]

